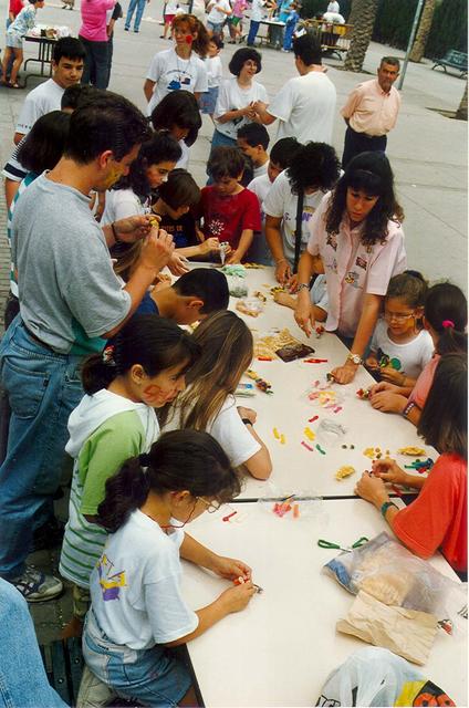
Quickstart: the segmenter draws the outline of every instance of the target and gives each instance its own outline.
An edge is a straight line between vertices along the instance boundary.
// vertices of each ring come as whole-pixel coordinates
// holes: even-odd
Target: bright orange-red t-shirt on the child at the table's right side
[[[467,462],[441,455],[416,500],[394,517],[394,533],[417,555],[430,558],[439,548],[455,570],[467,571]]]

